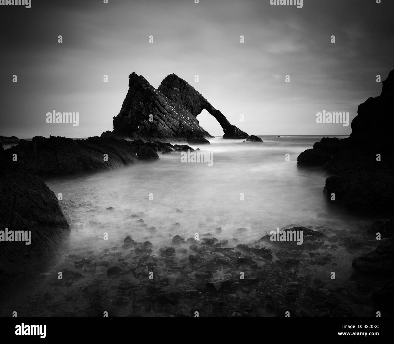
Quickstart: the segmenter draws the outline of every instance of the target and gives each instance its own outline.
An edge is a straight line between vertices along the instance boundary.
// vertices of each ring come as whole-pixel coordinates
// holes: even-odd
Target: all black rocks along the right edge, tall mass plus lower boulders
[[[299,165],[322,166],[333,174],[325,181],[327,201],[360,214],[379,217],[393,214],[393,105],[394,70],[382,82],[381,95],[359,105],[349,138],[322,138],[313,149],[298,156]],[[372,299],[381,307],[392,307],[394,302],[393,228],[392,219],[374,223],[368,233],[375,238],[380,236],[377,241],[381,244],[355,258],[352,264],[362,288],[374,290]]]

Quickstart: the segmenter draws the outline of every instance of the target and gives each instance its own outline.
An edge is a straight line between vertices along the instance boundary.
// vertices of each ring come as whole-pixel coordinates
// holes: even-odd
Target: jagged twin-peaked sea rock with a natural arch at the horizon
[[[249,137],[231,125],[223,113],[175,74],[168,75],[155,89],[143,76],[133,72],[129,76],[128,86],[121,111],[113,117],[116,136],[149,141],[167,139],[208,143],[205,138],[212,136],[197,120],[197,115],[205,109],[222,126],[223,138]]]

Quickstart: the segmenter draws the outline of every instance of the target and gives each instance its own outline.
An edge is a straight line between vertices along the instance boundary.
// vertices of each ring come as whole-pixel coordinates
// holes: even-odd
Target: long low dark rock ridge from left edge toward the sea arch
[[[3,154],[8,161],[12,161],[13,154],[17,154],[14,164],[29,168],[33,173],[55,176],[116,169],[135,164],[138,160],[156,160],[159,158],[158,152],[167,150],[175,149],[169,143],[144,143],[141,140],[126,141],[113,137],[73,140],[35,136],[32,141],[20,140],[18,145]]]

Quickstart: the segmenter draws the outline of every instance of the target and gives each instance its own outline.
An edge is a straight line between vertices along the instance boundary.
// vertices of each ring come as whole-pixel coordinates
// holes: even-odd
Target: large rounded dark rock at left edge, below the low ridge
[[[28,169],[0,157],[0,231],[31,231],[31,243],[0,241],[0,298],[37,276],[54,256],[69,225],[58,199]]]

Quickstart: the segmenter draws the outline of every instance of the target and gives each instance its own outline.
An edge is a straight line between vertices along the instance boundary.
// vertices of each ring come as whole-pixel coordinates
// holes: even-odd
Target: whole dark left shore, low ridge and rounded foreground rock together
[[[40,177],[115,169],[157,160],[158,154],[194,151],[187,145],[112,137],[73,140],[35,136],[28,141],[3,136],[2,141],[17,145],[9,149],[0,145],[0,231],[31,231],[33,240],[28,245],[0,241],[0,298],[43,271],[69,234],[57,196]]]

